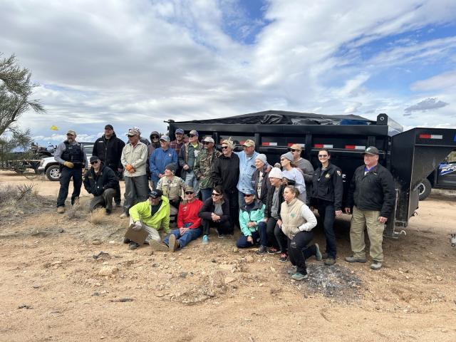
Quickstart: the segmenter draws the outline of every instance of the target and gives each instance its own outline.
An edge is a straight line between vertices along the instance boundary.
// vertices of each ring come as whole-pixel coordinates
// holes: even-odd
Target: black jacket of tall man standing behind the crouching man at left
[[[118,168],[123,168],[120,162],[120,156],[122,155],[124,146],[125,142],[117,138],[115,133],[109,139],[106,139],[103,134],[101,138],[95,140],[92,155],[99,157],[104,165],[117,172]]]

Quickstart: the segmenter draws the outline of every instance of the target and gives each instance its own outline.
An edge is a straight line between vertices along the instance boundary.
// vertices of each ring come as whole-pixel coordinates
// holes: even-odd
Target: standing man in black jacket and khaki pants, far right
[[[393,175],[378,164],[378,149],[369,146],[364,152],[364,165],[355,170],[348,190],[345,212],[351,217],[350,242],[353,255],[346,257],[348,262],[366,262],[364,228],[367,227],[370,254],[373,259],[371,269],[380,269],[383,262],[383,229],[393,210],[395,189]]]

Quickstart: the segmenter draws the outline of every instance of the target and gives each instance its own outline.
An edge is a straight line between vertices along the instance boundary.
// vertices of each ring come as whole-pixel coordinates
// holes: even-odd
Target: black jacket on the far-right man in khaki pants
[[[395,201],[393,175],[382,165],[364,175],[365,165],[355,170],[348,190],[347,206],[361,210],[379,210],[381,217],[389,217]]]

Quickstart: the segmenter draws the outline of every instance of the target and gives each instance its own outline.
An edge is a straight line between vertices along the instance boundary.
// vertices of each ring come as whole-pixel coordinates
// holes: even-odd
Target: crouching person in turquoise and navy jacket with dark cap
[[[238,248],[248,248],[259,243],[257,254],[266,253],[267,235],[264,222],[265,205],[255,198],[254,190],[245,190],[244,207],[239,210],[239,226],[242,235],[237,240]]]

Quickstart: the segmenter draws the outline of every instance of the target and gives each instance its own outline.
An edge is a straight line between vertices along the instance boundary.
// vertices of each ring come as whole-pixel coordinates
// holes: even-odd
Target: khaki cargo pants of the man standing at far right
[[[378,222],[380,212],[375,210],[361,210],[353,207],[350,225],[350,242],[353,257],[366,259],[366,243],[364,242],[364,229],[367,227],[369,241],[371,242],[371,258],[383,261],[383,230],[385,224]]]

